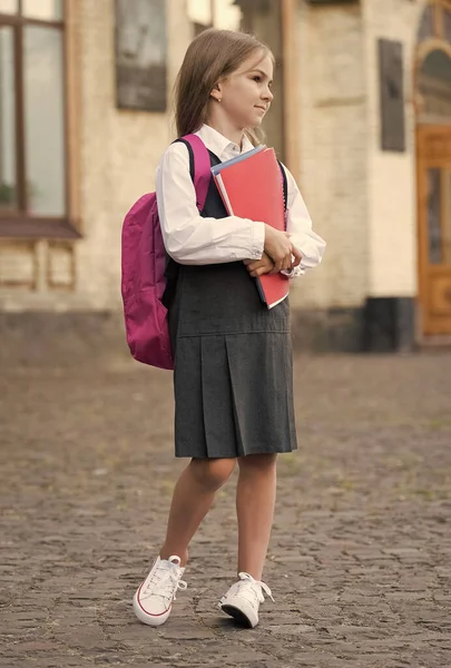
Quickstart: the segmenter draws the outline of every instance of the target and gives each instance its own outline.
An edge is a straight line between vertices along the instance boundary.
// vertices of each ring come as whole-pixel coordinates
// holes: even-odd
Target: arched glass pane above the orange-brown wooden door
[[[441,49],[423,60],[418,78],[420,115],[451,117],[451,59]]]

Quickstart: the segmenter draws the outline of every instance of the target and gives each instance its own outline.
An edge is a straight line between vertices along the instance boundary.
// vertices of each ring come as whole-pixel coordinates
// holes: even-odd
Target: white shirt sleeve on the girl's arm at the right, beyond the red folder
[[[318,265],[323,258],[325,240],[312,229],[312,219],[291,171],[284,167],[287,180],[287,222],[293,245],[302,253],[302,261],[291,272],[284,272],[291,278],[305,274]]]

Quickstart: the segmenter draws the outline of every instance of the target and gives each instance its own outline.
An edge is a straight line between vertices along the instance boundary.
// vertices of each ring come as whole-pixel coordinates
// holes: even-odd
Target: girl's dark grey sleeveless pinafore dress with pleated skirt
[[[213,179],[202,216],[227,216]],[[268,310],[243,262],[169,261],[167,278],[176,456],[295,450],[288,299]]]

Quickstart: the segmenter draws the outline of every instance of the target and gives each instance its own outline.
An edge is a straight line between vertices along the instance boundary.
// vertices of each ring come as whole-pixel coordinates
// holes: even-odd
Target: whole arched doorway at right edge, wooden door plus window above
[[[451,2],[431,0],[415,80],[419,297],[422,334],[451,335]]]

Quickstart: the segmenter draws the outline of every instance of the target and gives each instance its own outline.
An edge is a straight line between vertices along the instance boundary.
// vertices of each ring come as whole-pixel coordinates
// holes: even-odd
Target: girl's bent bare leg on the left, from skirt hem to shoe
[[[235,463],[235,459],[193,459],[189,462],[174,490],[166,540],[159,553],[161,559],[177,554],[185,566],[188,544]]]

